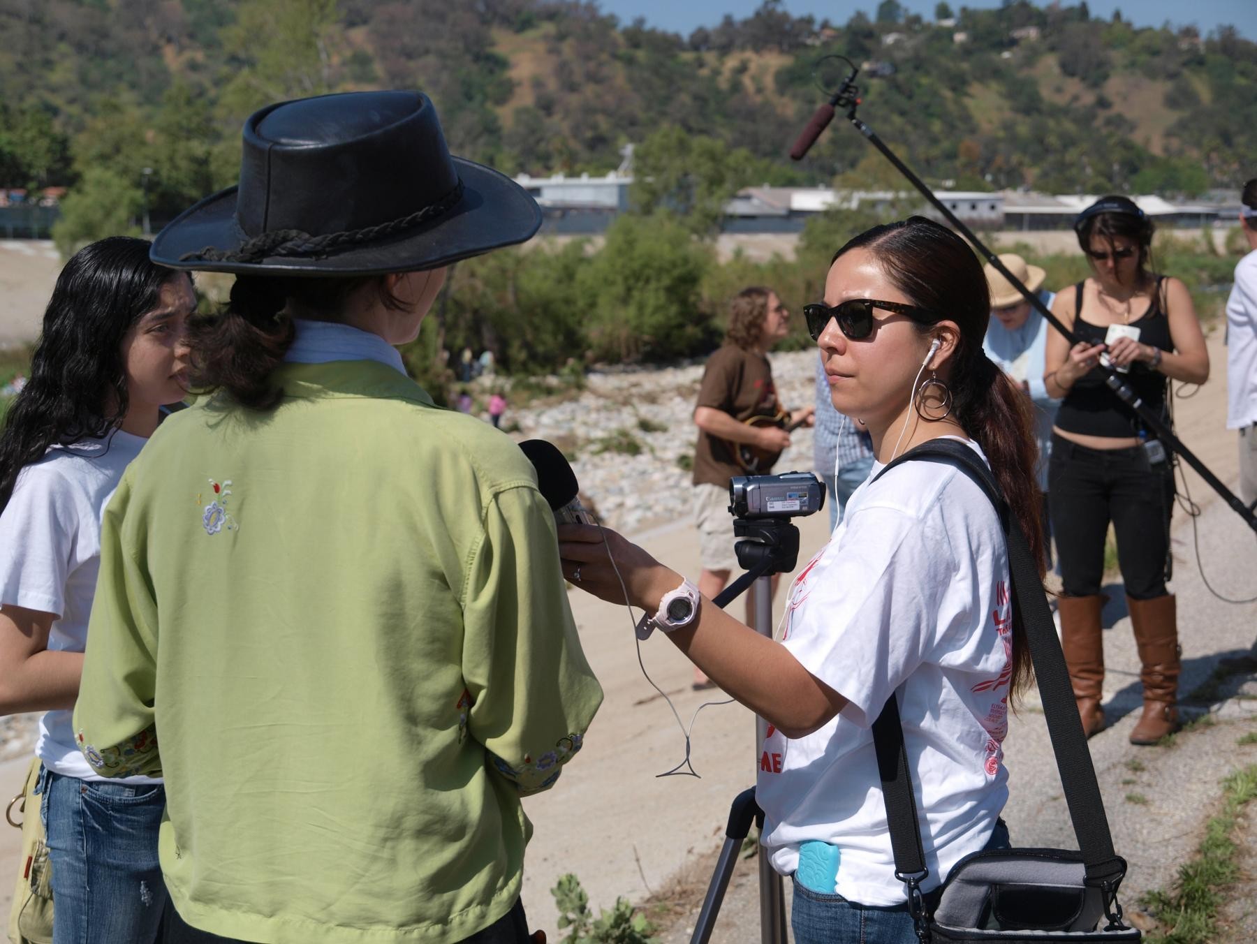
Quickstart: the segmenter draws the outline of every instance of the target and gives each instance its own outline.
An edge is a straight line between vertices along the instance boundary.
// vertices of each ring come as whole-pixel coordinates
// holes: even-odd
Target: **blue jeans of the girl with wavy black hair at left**
[[[53,866],[53,944],[156,941],[167,901],[157,864],[166,788],[45,768],[35,792]]]

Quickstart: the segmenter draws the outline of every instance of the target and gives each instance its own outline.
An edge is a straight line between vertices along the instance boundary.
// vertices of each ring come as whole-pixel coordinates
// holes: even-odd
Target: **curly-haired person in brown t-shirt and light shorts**
[[[699,592],[709,600],[724,590],[738,568],[733,551],[733,517],[729,514],[729,479],[734,475],[766,475],[776,458],[789,445],[783,426],[750,425],[754,416],[779,417],[783,425],[811,425],[815,406],[787,412],[777,400],[768,351],[788,333],[789,312],[777,293],[753,285],[739,292],[729,309],[724,344],[708,359],[699,388],[694,424],[699,427],[694,453],[694,520],[699,529],[703,572]],[[739,464],[739,446],[753,446],[764,455],[750,470]],[[773,591],[777,577],[773,577]],[[747,593],[747,622],[754,616]],[[694,670],[694,686],[710,685]]]

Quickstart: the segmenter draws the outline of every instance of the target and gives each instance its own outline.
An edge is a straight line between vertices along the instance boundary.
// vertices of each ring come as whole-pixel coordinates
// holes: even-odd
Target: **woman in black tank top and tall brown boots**
[[[1139,398],[1168,417],[1166,377],[1204,383],[1209,354],[1187,287],[1148,268],[1154,226],[1134,201],[1102,197],[1073,229],[1091,275],[1058,293],[1052,310],[1082,339],[1071,347],[1048,332],[1043,375],[1047,392],[1063,397],[1047,474],[1063,583],[1061,642],[1091,737],[1105,727],[1100,587],[1112,522],[1144,685],[1130,742],[1155,744],[1178,727],[1178,626],[1165,588],[1174,474],[1164,446],[1096,366],[1124,373]]]

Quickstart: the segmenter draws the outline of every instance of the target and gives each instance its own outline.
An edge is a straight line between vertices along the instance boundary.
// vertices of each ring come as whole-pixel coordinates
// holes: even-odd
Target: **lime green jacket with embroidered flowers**
[[[454,941],[519,895],[520,796],[602,691],[535,474],[370,361],[175,415],[122,479],[75,708],[161,774],[180,915],[263,941]]]

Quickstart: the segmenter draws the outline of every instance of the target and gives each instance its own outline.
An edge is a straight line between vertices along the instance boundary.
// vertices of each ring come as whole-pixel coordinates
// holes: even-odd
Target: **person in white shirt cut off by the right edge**
[[[1244,184],[1239,229],[1248,255],[1227,299],[1227,429],[1239,431],[1239,498],[1257,504],[1257,177]]]

